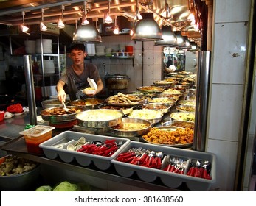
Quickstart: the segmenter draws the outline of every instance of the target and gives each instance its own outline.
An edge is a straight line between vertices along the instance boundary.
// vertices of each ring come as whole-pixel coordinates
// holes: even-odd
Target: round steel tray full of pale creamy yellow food
[[[82,127],[104,128],[120,124],[122,116],[121,110],[96,109],[83,111],[75,117]]]

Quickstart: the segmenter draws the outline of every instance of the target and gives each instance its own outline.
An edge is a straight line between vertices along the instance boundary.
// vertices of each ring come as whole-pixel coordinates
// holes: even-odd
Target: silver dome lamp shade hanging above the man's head
[[[73,43],[101,43],[101,36],[92,24],[79,25],[73,35]]]

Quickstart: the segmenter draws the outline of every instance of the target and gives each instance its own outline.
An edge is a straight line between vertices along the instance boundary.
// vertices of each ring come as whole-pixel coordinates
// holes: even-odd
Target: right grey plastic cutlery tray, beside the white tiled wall
[[[164,154],[169,154],[170,156],[181,157],[188,162],[191,159],[197,160],[207,160],[210,161],[212,164],[210,176],[212,177],[211,180],[206,180],[199,177],[191,177],[187,176],[187,171],[189,169],[189,164],[187,164],[187,168],[185,169],[184,174],[177,174],[169,171],[164,171],[162,169],[156,168],[148,168],[144,166],[133,165],[130,163],[123,163],[117,161],[117,156],[111,160],[111,163],[114,164],[114,167],[118,174],[122,177],[131,177],[135,172],[138,175],[139,179],[145,182],[153,182],[159,177],[162,182],[170,188],[178,188],[182,182],[185,182],[187,188],[191,191],[208,191],[210,186],[216,182],[216,157],[215,154],[207,153],[207,152],[198,152],[193,150],[187,149],[179,149],[167,146],[157,146],[148,143],[141,143],[131,141],[128,145],[126,145],[122,151],[120,152],[128,152],[131,148],[139,148],[142,149],[151,149],[153,151],[163,152]]]

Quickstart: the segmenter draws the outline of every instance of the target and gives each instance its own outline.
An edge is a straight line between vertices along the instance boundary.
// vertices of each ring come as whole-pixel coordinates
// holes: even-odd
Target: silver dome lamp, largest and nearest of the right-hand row
[[[153,19],[153,13],[142,13],[141,15],[143,19],[136,24],[134,28],[134,35],[131,37],[131,40],[162,40],[163,38],[161,29]]]

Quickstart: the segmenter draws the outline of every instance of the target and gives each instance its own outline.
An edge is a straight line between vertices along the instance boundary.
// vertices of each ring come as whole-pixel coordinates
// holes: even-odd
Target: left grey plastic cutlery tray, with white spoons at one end
[[[117,151],[114,152],[111,157],[103,157],[100,155],[69,151],[66,149],[59,149],[54,147],[54,145],[60,143],[68,143],[71,140],[77,141],[80,137],[85,137],[86,141],[105,142],[106,140],[116,140],[117,143],[119,143],[119,141],[122,141],[122,146],[120,146],[120,148],[117,149]],[[66,131],[60,133],[59,135],[56,135],[55,137],[49,139],[48,141],[45,141],[44,143],[41,143],[39,147],[43,149],[44,154],[49,159],[55,159],[59,156],[60,159],[63,160],[63,162],[65,163],[71,163],[73,160],[76,160],[77,163],[79,163],[81,166],[89,166],[93,162],[94,165],[97,166],[97,168],[101,170],[106,170],[111,166],[110,160],[114,157],[117,157],[117,154],[119,154],[122,149],[125,148],[125,146],[128,146],[129,142],[130,140],[127,138],[114,138],[103,135],[85,134],[83,132]]]

